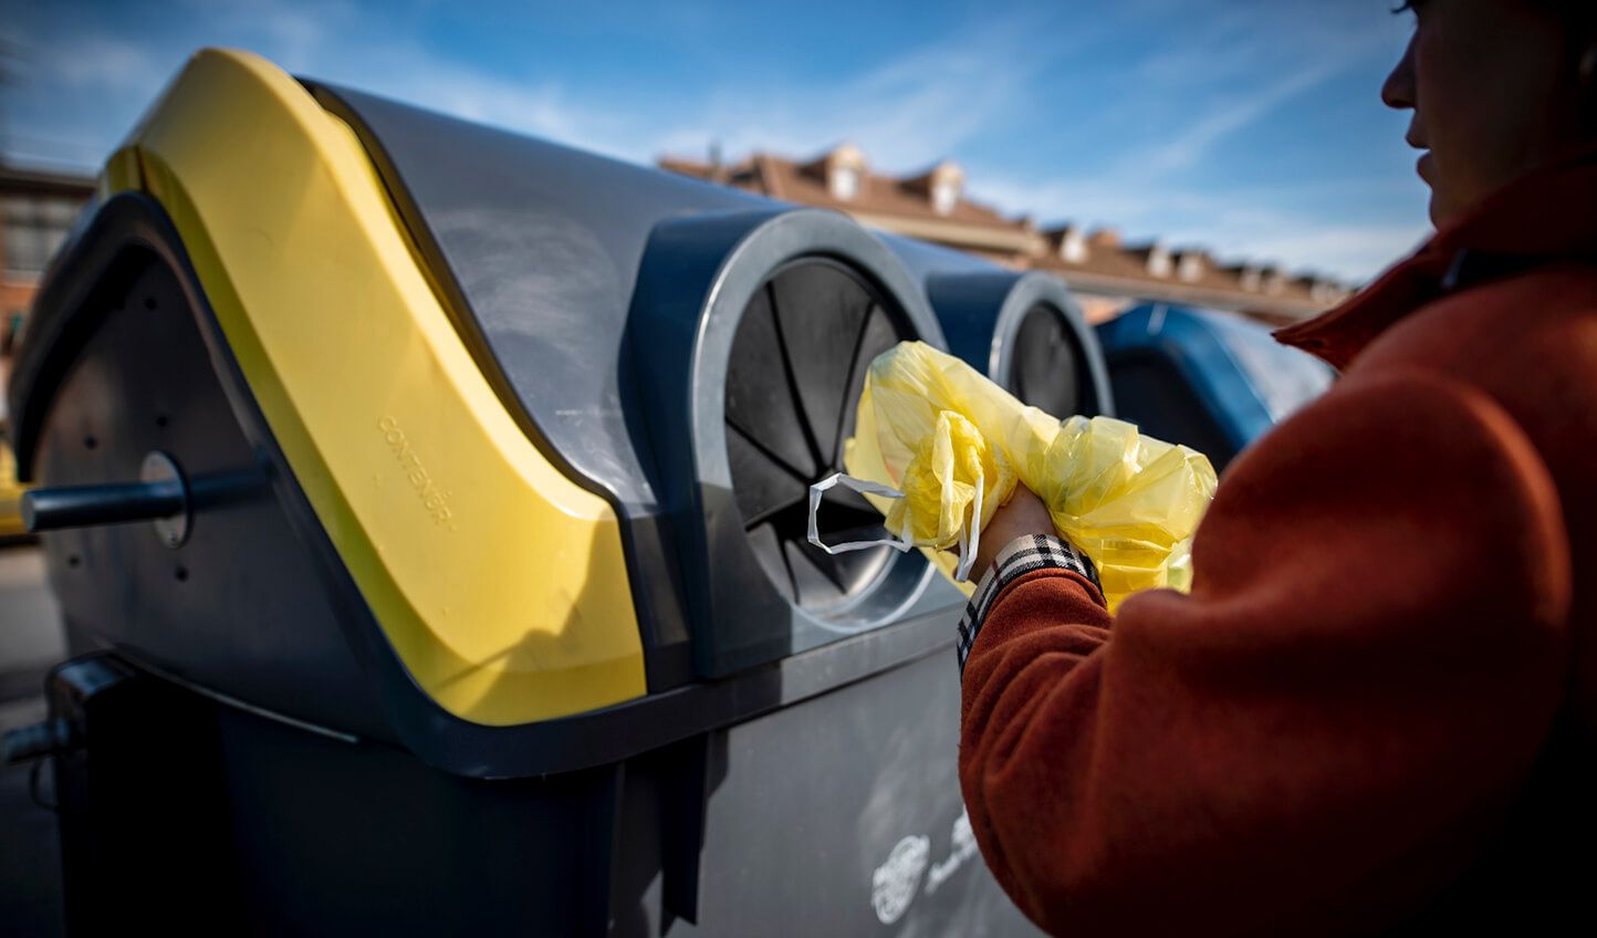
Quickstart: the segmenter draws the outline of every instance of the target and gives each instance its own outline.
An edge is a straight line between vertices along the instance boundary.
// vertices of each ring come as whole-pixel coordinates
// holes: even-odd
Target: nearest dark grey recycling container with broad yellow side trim
[[[880,238],[227,51],[104,179],[10,385],[72,932],[1032,933],[963,596],[802,537],[944,345]]]

